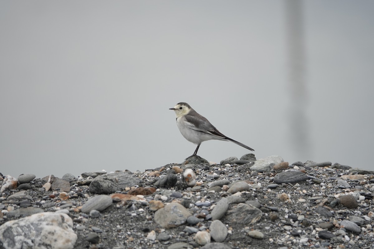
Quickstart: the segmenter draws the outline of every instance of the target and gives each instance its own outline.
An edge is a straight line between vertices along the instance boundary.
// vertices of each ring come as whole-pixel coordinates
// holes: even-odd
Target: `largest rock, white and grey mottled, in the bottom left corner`
[[[73,249],[77,235],[67,214],[43,212],[5,222],[0,226],[0,240],[5,249]]]

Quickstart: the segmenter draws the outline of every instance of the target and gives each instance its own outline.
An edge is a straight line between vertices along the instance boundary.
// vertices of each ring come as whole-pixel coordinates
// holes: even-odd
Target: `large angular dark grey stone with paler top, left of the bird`
[[[138,185],[141,180],[130,173],[116,172],[99,175],[91,182],[89,192],[96,194],[110,194],[125,190],[126,187]]]

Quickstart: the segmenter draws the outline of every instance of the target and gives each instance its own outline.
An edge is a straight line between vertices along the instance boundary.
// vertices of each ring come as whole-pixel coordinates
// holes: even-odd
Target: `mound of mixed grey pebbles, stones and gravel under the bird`
[[[373,174],[253,154],[61,179],[0,174],[0,248],[370,249]]]

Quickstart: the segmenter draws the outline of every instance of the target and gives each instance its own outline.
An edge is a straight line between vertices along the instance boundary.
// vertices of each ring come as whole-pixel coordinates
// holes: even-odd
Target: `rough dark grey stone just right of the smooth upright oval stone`
[[[252,225],[262,217],[262,211],[245,203],[239,203],[227,211],[225,219],[230,222]]]

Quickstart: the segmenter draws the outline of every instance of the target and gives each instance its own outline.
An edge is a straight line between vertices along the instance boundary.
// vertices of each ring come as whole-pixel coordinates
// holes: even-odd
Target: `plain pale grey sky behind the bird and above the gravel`
[[[0,172],[183,162],[196,146],[168,110],[178,102],[258,159],[373,169],[374,2],[302,9],[304,101],[291,89],[284,1],[0,1]],[[212,140],[198,155],[249,152]]]

